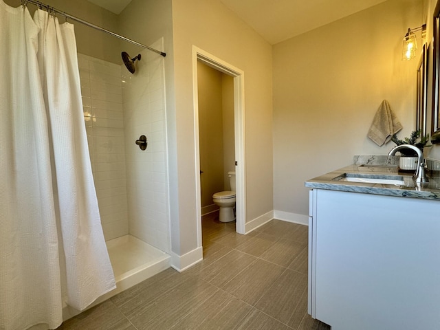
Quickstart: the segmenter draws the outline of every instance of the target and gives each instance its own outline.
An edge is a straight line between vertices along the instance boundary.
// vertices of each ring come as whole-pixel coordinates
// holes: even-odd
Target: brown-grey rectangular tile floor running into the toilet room
[[[307,315],[307,227],[272,220],[248,235],[203,217],[203,261],[172,268],[67,320],[61,330],[327,330]]]

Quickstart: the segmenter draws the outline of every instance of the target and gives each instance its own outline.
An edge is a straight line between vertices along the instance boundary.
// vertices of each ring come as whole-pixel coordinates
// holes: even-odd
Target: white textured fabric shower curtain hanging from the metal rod
[[[74,26],[0,0],[0,329],[55,329],[115,288]]]

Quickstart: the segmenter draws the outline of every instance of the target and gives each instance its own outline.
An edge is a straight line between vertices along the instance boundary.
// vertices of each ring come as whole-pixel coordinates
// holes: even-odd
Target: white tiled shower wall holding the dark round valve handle
[[[162,50],[162,43],[151,47]],[[129,232],[170,252],[164,58],[140,54],[135,74],[122,67]],[[135,144],[140,135],[148,140],[145,151]]]

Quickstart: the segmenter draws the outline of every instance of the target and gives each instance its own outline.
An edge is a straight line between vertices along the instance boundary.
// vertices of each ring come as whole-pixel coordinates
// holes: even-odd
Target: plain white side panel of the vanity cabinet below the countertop
[[[440,202],[310,191],[309,314],[332,330],[440,329]]]

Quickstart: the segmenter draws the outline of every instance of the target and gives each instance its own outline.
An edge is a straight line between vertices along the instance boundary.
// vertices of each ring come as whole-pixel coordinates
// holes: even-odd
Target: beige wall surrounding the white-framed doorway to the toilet
[[[192,45],[245,72],[246,221],[273,209],[272,47],[217,0],[174,0],[173,36],[181,255],[197,248]]]

